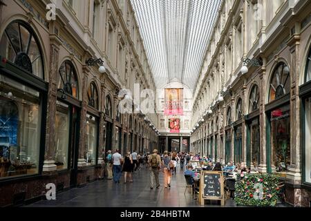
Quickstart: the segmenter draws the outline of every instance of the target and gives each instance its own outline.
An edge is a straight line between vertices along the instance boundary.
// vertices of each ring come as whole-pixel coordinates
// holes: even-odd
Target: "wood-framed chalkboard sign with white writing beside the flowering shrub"
[[[200,197],[205,200],[223,200],[223,173],[218,171],[201,171]]]

